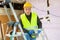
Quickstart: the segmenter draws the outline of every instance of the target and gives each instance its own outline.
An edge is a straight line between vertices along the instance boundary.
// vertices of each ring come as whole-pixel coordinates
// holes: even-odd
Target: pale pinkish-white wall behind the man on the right
[[[39,17],[47,15],[46,0],[27,0],[33,4],[32,11],[36,11]],[[38,9],[37,9],[38,8]],[[48,36],[48,40],[60,40],[60,0],[50,0],[50,23],[46,19],[42,20],[43,28]]]

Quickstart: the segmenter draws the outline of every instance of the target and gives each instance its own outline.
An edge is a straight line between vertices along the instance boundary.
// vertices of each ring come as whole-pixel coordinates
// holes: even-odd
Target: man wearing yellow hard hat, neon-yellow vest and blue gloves
[[[24,13],[20,15],[20,23],[27,40],[36,40],[35,31],[42,28],[42,23],[35,12],[31,12],[32,4],[26,2]],[[39,30],[37,30],[40,33]]]

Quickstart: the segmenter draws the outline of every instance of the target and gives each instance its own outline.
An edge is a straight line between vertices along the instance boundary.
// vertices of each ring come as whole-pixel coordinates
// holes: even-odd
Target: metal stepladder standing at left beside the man
[[[14,28],[13,28],[13,33],[12,33],[12,35],[6,34],[6,36],[9,36],[9,37],[10,37],[10,40],[14,40],[14,37],[16,37],[16,36],[21,36],[21,35],[22,35],[23,38],[24,38],[24,40],[27,40],[26,37],[25,37],[25,35],[24,35],[23,29],[21,28],[21,25],[20,25],[20,23],[19,23],[19,19],[18,19],[17,15],[16,15],[16,12],[15,12],[12,4],[11,4],[11,0],[4,0],[4,1],[2,2],[2,5],[4,6],[4,9],[5,9],[5,11],[6,11],[6,14],[7,14],[8,18],[9,18],[9,21],[12,22],[12,20],[11,20],[11,18],[10,18],[10,14],[9,14],[8,11],[7,11],[6,4],[9,4],[10,9],[11,9],[11,11],[12,11],[14,17],[15,17],[15,20],[16,20],[16,23],[15,23]],[[18,32],[17,35],[15,35],[16,25],[18,25],[18,28],[19,28],[19,30],[21,31],[21,32]],[[7,29],[8,29],[8,28],[7,28]],[[20,34],[20,35],[18,35],[18,34]],[[4,40],[5,40],[5,37],[4,37]]]

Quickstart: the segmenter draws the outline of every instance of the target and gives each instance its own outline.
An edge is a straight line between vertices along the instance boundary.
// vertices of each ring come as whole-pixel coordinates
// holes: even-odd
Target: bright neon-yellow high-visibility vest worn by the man
[[[37,14],[32,12],[31,15],[31,22],[29,22],[29,20],[27,19],[25,13],[22,14],[20,16],[21,20],[22,20],[22,24],[23,24],[23,28],[27,29],[27,30],[35,30],[38,29],[38,25],[37,25]]]

